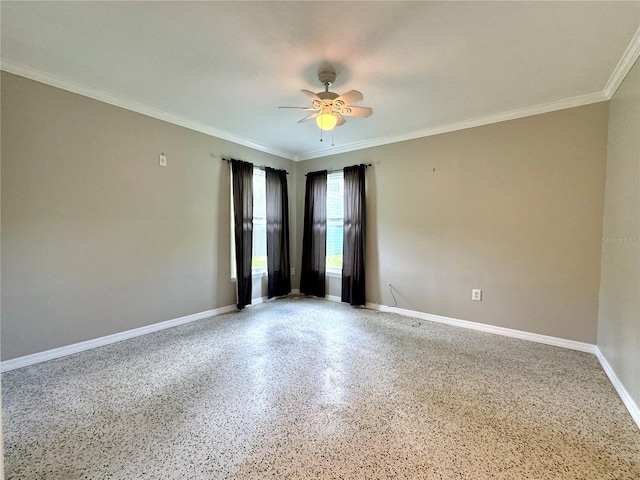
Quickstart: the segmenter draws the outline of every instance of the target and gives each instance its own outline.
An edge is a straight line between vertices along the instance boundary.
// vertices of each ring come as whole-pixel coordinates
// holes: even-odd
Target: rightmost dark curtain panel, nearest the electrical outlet
[[[351,305],[365,304],[365,170],[365,165],[344,169],[342,301]]]

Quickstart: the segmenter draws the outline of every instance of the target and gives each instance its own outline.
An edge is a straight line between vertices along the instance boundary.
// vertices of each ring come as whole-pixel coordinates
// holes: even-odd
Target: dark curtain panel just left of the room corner
[[[266,167],[267,273],[269,298],[291,293],[287,172]]]

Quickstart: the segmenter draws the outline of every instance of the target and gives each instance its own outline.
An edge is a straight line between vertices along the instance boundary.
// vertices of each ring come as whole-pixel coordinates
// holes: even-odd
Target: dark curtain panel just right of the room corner
[[[307,174],[300,292],[324,297],[327,262],[327,171]]]

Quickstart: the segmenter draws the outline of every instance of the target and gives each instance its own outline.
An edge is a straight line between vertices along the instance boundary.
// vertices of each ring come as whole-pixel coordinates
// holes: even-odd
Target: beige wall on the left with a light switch
[[[235,304],[221,156],[294,208],[289,160],[3,72],[2,358]]]

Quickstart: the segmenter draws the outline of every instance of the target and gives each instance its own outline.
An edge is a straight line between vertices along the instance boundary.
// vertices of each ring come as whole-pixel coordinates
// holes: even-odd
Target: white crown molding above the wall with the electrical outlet
[[[330,150],[312,150],[299,155],[294,156],[293,160],[303,161],[312,160],[314,158],[327,157],[330,155],[337,155],[339,153],[352,152],[355,150],[362,150],[365,148],[379,147],[381,145],[388,145],[390,143],[404,142],[407,140],[415,140],[422,137],[430,137],[433,135],[440,135],[442,133],[450,133],[458,130],[465,130],[467,128],[481,127],[483,125],[490,125],[492,123],[505,122],[507,120],[515,120],[518,118],[530,117],[533,115],[540,115],[542,113],[555,112],[558,110],[565,110],[567,108],[581,107],[583,105],[589,105],[591,103],[604,102],[609,100],[603,92],[589,93],[587,95],[580,95],[577,97],[566,98],[555,102],[543,103],[540,105],[534,105],[531,107],[518,108],[516,110],[510,110],[508,112],[501,112],[492,115],[485,115],[482,117],[471,118],[469,120],[462,120],[460,122],[453,122],[446,125],[440,125],[437,127],[431,127],[423,130],[416,130],[414,132],[405,133],[402,135],[392,135],[388,137],[379,137],[372,140],[366,140],[362,142],[354,142],[348,145],[342,145],[340,147],[331,147]]]

